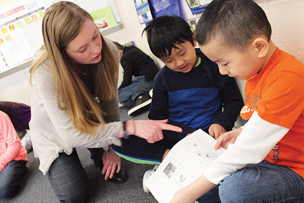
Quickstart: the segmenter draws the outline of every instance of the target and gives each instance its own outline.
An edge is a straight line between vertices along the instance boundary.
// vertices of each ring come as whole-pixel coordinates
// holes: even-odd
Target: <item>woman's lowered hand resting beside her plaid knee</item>
[[[105,174],[104,180],[107,180],[108,178],[112,178],[115,172],[119,173],[121,170],[121,158],[119,155],[117,155],[114,152],[105,151],[102,154],[102,163],[103,163],[103,167],[101,174]]]

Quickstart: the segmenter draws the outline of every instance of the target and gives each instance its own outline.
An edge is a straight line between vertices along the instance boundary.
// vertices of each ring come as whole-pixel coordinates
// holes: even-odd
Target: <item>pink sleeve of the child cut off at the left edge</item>
[[[0,172],[3,168],[19,154],[21,149],[21,141],[17,135],[17,132],[13,126],[13,123],[9,116],[0,111],[0,136],[3,142],[0,143],[2,146],[2,154],[0,155]],[[6,150],[5,150],[6,148]]]

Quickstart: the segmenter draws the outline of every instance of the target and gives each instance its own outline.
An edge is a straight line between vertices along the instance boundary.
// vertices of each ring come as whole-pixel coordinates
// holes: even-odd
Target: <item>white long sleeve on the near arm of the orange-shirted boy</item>
[[[226,176],[250,163],[259,163],[285,136],[288,128],[261,119],[253,112],[234,144],[213,161],[204,176],[218,184]]]

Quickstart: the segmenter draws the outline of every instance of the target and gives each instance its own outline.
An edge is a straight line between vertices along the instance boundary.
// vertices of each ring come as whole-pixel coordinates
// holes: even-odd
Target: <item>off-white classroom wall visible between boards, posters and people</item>
[[[181,1],[183,16],[186,19],[199,19],[200,14],[192,15],[184,0]],[[134,41],[135,45],[154,57],[141,32],[133,0],[114,0],[124,28],[105,37],[121,44]],[[263,8],[273,28],[272,40],[282,50],[297,57],[304,63],[304,1],[303,0],[256,0]],[[0,78],[0,100],[16,101],[30,105],[31,87],[28,83],[28,68]]]

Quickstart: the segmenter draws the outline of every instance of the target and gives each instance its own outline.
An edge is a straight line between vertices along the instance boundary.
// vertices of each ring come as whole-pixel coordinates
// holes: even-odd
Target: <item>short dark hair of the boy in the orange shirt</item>
[[[221,40],[225,47],[244,52],[255,36],[271,38],[265,12],[252,0],[213,0],[203,12],[195,30],[195,40],[206,45]]]

